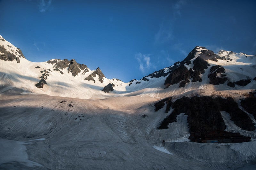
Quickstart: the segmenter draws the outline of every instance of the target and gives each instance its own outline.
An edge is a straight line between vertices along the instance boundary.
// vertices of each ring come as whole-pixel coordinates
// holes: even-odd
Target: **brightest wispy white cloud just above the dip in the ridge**
[[[149,67],[153,66],[150,62],[150,54],[137,53],[135,58],[138,60],[139,69],[142,73],[145,73]]]

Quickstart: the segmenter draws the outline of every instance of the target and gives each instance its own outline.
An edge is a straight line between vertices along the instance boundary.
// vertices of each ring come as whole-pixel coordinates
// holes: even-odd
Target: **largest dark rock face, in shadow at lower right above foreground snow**
[[[247,131],[255,130],[250,117],[240,110],[237,103],[230,97],[225,99],[222,97],[212,98],[210,96],[182,97],[174,103],[170,102],[171,99],[164,100],[168,101],[169,106],[172,106],[174,110],[164,119],[158,129],[167,129],[169,123],[176,121],[177,115],[186,113],[188,115],[190,134],[198,132],[201,137],[204,137],[212,131],[224,131],[226,129],[220,114],[220,111],[226,111],[238,127]],[[163,107],[163,101],[159,101],[156,106]],[[192,136],[190,136],[191,138]]]

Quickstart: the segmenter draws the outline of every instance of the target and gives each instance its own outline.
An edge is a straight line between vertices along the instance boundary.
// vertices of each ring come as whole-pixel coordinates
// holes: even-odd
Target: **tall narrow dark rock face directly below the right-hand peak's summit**
[[[210,66],[205,60],[201,59],[200,57],[197,57],[196,60],[193,61],[194,67],[193,67],[193,80],[192,82],[199,81],[201,82],[202,79],[200,77],[200,74],[204,73],[204,69],[207,69],[208,66]]]

